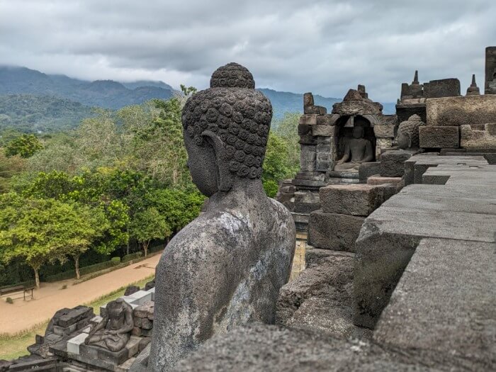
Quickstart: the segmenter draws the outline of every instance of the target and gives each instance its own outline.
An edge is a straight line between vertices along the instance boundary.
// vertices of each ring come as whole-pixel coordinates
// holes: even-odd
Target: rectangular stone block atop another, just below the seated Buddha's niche
[[[370,215],[393,194],[389,188],[369,184],[336,184],[322,187],[320,189],[322,212]]]

